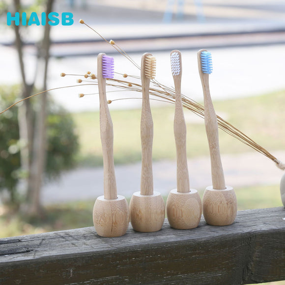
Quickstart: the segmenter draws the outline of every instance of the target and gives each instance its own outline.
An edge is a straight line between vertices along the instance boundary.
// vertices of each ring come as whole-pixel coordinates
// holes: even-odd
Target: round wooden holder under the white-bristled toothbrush
[[[181,193],[171,190],[166,202],[166,213],[172,228],[197,228],[202,214],[202,202],[198,191]]]

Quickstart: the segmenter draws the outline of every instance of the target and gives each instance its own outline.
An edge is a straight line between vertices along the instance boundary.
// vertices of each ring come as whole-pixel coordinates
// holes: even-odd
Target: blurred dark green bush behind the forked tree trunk
[[[13,104],[20,93],[19,85],[0,86],[0,110]],[[38,108],[35,101],[40,101],[40,98],[33,100],[32,110]],[[13,207],[17,207],[23,199],[17,186],[26,176],[20,159],[23,144],[18,126],[20,108],[15,106],[0,115],[0,191],[6,190],[3,202]],[[50,179],[75,165],[79,144],[71,115],[53,102],[49,102],[47,109],[47,159],[44,169],[45,177]]]

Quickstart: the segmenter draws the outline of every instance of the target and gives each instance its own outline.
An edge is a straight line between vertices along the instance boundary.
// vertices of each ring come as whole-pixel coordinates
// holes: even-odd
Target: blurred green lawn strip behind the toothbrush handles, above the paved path
[[[115,103],[114,103],[115,104]],[[251,98],[218,101],[216,113],[265,149],[283,149],[285,145],[285,90]],[[208,155],[208,144],[203,120],[188,120],[196,116],[185,109],[187,120],[188,157]],[[140,119],[141,110],[111,111],[114,125],[114,160],[116,164],[141,160]],[[175,159],[173,135],[174,107],[153,108],[154,122],[153,160]],[[103,164],[99,129],[99,113],[73,114],[80,138],[80,165]],[[222,153],[251,151],[249,146],[220,131]]]

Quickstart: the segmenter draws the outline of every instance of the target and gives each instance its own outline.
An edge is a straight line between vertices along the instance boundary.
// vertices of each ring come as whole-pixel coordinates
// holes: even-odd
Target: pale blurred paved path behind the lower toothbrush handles
[[[275,152],[277,158],[285,161],[285,151]],[[257,152],[236,155],[223,155],[223,167],[226,184],[238,188],[253,185],[276,185],[280,183],[283,171],[271,160]],[[188,161],[190,187],[203,191],[211,185],[210,162],[208,157]],[[140,190],[141,163],[115,166],[117,192],[131,197]],[[159,161],[153,163],[154,190],[167,196],[176,188],[176,163]],[[82,168],[62,175],[57,182],[44,186],[42,201],[44,204],[73,200],[92,199],[103,195],[103,169]]]

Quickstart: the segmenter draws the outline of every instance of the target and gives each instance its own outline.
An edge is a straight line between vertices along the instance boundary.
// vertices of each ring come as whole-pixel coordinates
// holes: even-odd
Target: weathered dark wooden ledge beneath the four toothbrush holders
[[[285,208],[233,225],[103,238],[93,227],[0,239],[0,284],[211,284],[285,280]]]

